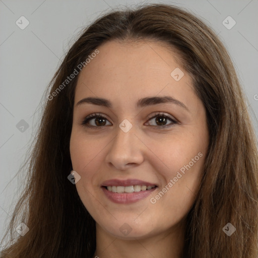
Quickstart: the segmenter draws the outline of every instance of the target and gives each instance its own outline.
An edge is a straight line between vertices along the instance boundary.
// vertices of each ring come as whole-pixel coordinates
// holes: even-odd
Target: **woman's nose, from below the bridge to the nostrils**
[[[117,126],[117,135],[110,143],[105,159],[109,166],[118,170],[126,170],[140,165],[144,161],[143,144],[135,135],[133,128],[124,133]]]

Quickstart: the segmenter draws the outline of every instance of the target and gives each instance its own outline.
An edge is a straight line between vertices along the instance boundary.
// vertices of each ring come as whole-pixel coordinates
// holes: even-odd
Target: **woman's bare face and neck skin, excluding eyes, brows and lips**
[[[200,187],[209,144],[205,107],[176,54],[161,42],[109,41],[98,50],[78,78],[70,141],[73,169],[81,176],[76,188],[96,221],[94,256],[181,257],[185,217]],[[175,68],[184,73],[179,81],[170,76]],[[173,97],[188,110],[174,103],[136,106],[139,99],[156,96]],[[112,107],[77,105],[86,97],[108,99]],[[99,120],[96,124],[93,118],[89,123],[95,127],[82,125],[95,112],[106,117],[106,124],[97,127]],[[167,119],[171,126],[162,127],[155,122],[159,115],[150,120],[157,112],[177,123]],[[127,133],[118,126],[124,119],[133,125]],[[198,153],[203,156],[151,203]],[[158,187],[136,203],[116,204],[101,188],[113,178],[137,178]],[[127,235],[119,230],[124,223],[132,229]]]

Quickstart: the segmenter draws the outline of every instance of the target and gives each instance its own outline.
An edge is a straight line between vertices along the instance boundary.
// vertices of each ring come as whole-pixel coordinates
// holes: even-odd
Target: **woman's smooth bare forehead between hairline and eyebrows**
[[[183,101],[186,93],[194,95],[190,76],[165,44],[109,41],[98,50],[79,74],[75,101],[86,96],[137,101],[159,94],[173,95]],[[181,71],[183,77],[176,81],[172,71]]]

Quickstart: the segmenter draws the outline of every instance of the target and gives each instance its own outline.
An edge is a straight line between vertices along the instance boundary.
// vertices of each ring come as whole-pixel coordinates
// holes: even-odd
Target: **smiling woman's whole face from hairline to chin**
[[[209,144],[204,105],[160,42],[110,41],[98,50],[75,93],[70,151],[79,196],[106,234],[170,232],[199,189]]]

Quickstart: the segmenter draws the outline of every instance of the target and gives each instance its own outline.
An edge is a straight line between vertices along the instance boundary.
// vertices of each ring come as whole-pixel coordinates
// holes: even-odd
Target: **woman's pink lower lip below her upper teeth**
[[[157,187],[154,187],[154,188],[151,188],[150,190],[145,190],[145,191],[122,192],[122,193],[109,191],[104,186],[102,186],[101,188],[104,191],[106,197],[113,203],[131,204],[131,203],[136,203],[148,197],[153,191],[156,190]]]

